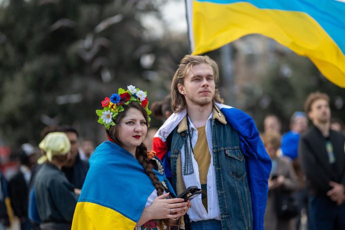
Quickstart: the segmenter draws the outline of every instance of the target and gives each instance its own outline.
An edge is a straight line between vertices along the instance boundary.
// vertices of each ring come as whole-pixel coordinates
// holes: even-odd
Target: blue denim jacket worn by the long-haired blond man
[[[218,203],[222,229],[252,229],[250,190],[246,175],[244,154],[238,133],[229,123],[211,120],[212,157],[215,168]],[[183,189],[180,149],[187,130],[176,127],[171,136],[170,167],[172,186],[175,191]]]

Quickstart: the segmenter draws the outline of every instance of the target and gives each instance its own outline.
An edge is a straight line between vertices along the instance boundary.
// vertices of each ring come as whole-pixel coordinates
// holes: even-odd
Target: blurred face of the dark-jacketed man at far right
[[[315,100],[310,106],[308,116],[314,124],[330,122],[330,108],[328,101],[322,98]]]

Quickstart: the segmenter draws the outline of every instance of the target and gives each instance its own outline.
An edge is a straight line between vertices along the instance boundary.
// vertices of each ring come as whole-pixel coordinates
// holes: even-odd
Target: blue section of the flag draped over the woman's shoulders
[[[90,168],[78,202],[92,202],[111,208],[137,222],[154,186],[141,164],[119,145],[105,141],[89,159]],[[154,170],[159,181],[166,177]]]

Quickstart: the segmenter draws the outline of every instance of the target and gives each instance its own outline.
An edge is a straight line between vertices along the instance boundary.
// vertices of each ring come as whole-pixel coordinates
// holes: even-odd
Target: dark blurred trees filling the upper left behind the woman
[[[158,6],[164,2],[1,1],[0,132],[4,142],[12,147],[38,143],[44,126],[66,123],[82,136],[102,140],[94,113],[101,98],[128,84],[148,90],[154,75],[162,72],[160,65],[174,62],[169,54],[159,61],[154,58],[171,51],[167,41],[143,35],[142,17],[161,18]],[[161,80],[150,86],[158,83]]]

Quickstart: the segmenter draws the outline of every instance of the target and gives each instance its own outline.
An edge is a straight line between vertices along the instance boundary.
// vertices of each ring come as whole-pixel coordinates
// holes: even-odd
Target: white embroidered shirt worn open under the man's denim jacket
[[[192,147],[195,146],[196,140],[197,140],[197,129],[194,127],[194,125],[191,123],[189,117],[187,117],[190,124],[190,133],[192,133],[191,136],[191,145]],[[220,220],[220,209],[218,204],[218,195],[217,195],[217,189],[215,184],[215,171],[214,171],[214,164],[213,164],[213,157],[212,157],[212,133],[211,133],[211,118],[212,113],[209,115],[205,131],[206,131],[206,139],[208,144],[208,149],[211,154],[211,161],[209,164],[208,172],[207,172],[207,208],[206,211],[205,207],[202,204],[201,201],[201,195],[196,196],[191,200],[191,208],[188,209],[188,215],[191,221],[199,221],[199,220],[205,220],[205,219],[217,219]],[[187,137],[188,138],[188,137]],[[201,188],[200,184],[200,177],[199,177],[199,170],[197,166],[197,162],[191,154],[191,161],[193,166],[193,173],[189,175],[183,175],[183,168],[184,168],[184,144],[181,148],[181,166],[182,166],[182,178],[185,184],[185,187],[196,185],[198,188]]]

